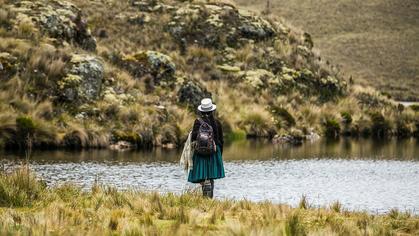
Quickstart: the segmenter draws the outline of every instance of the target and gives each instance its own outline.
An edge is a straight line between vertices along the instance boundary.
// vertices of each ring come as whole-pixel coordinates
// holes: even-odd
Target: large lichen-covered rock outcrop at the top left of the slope
[[[87,27],[87,20],[82,17],[81,10],[69,2],[14,1],[10,9],[16,15],[15,26],[29,19],[50,37],[78,44],[86,50],[96,49],[96,40]]]

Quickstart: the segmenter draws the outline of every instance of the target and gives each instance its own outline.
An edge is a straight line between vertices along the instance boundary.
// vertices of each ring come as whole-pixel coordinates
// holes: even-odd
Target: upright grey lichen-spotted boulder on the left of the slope
[[[104,78],[102,62],[93,56],[74,54],[70,65],[67,76],[58,81],[64,99],[69,102],[98,99]]]

